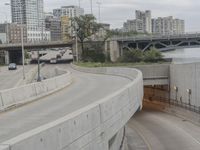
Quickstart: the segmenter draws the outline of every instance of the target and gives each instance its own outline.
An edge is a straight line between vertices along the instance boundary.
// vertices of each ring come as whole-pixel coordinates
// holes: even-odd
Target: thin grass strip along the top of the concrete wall
[[[155,64],[170,64],[169,62],[157,62],[157,63],[146,63],[146,62],[138,62],[138,63],[94,63],[94,62],[79,62],[74,63],[75,65],[81,67],[133,67],[139,65],[155,65]]]

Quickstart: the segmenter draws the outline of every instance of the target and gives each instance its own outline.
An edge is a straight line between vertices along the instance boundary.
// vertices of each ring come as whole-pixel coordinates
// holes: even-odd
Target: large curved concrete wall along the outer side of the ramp
[[[142,73],[127,68],[73,67],[84,72],[125,76],[131,80],[125,87],[87,107],[0,144],[0,150],[8,147],[9,150],[113,149],[112,139],[142,105]]]

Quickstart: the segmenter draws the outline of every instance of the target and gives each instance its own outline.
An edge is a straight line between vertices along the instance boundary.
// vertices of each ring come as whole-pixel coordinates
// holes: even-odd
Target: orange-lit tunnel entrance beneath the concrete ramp
[[[144,100],[169,102],[170,90],[168,85],[144,86]]]

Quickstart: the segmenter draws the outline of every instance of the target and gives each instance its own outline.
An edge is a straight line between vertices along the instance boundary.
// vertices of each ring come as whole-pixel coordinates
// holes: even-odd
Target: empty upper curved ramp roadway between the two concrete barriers
[[[81,73],[68,65],[59,67],[72,72],[72,85],[31,104],[0,113],[0,142],[61,118],[130,83],[122,77]]]

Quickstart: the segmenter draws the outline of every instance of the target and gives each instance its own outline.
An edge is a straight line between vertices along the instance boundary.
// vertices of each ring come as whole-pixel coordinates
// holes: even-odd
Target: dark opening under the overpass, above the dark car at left
[[[10,63],[22,64],[22,52],[21,51],[10,51],[9,52]]]

